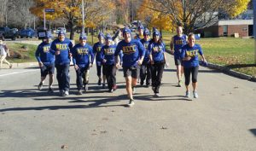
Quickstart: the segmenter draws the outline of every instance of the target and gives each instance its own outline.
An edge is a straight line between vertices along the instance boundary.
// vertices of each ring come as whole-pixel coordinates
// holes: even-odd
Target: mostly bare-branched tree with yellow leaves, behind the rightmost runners
[[[143,3],[144,7],[170,16],[176,26],[183,26],[184,32],[193,32],[195,25],[207,26],[219,9],[238,6],[236,0],[152,0],[154,7]],[[238,1],[237,1],[238,2]]]

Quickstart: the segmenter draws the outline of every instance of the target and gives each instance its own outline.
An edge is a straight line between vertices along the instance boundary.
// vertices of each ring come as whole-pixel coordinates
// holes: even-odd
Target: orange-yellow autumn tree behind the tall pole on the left
[[[56,18],[66,18],[70,26],[70,38],[73,39],[75,28],[81,25],[82,20],[82,0],[34,0],[36,5],[31,8],[34,15],[42,18],[44,9],[55,9],[55,13],[46,14],[47,20]],[[105,2],[105,3],[104,3]],[[88,26],[96,26],[96,21],[107,19],[109,10],[113,9],[111,1],[104,0],[84,0],[84,20]]]

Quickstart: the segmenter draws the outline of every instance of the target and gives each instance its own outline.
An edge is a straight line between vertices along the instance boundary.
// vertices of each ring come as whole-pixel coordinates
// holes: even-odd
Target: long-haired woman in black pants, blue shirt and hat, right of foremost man
[[[157,30],[153,32],[153,39],[148,46],[148,50],[151,62],[152,90],[154,91],[154,96],[158,97],[160,96],[160,84],[166,63],[166,49]]]

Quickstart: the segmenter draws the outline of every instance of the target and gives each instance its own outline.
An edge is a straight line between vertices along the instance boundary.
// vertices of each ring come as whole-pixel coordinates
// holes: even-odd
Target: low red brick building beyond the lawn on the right
[[[253,36],[253,20],[214,20],[211,26],[195,32],[205,38],[234,36],[235,33],[239,37],[249,37]]]

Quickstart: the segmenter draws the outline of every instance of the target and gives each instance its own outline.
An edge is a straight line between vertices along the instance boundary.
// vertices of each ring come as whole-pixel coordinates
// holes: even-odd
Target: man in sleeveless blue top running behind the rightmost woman
[[[174,55],[174,62],[177,68],[177,86],[182,86],[182,77],[183,77],[183,63],[181,58],[182,47],[187,44],[188,37],[183,34],[183,27],[177,26],[176,29],[177,35],[172,37],[170,44],[171,53]]]

